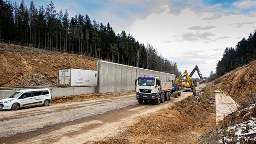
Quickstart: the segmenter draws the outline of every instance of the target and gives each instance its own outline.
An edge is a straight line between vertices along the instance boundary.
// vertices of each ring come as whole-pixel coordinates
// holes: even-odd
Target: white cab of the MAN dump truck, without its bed
[[[157,100],[157,95],[160,92],[160,78],[154,76],[139,76],[135,80],[136,85],[136,98],[141,102],[148,100]]]

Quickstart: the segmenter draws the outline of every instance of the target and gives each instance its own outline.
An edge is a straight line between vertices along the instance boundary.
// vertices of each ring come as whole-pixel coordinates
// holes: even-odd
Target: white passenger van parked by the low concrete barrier
[[[49,88],[24,89],[0,100],[0,110],[19,110],[22,107],[35,105],[48,106],[50,102],[52,95]]]

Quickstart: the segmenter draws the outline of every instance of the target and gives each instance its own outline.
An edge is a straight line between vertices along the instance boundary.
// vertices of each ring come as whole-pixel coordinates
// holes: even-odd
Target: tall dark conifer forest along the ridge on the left
[[[52,2],[35,7],[31,1],[27,7],[24,0],[20,4],[0,0],[0,39],[180,75],[176,62],[159,55],[152,45],[138,42],[124,30],[116,34],[109,23],[98,23],[87,14],[69,18],[68,10],[56,12]]]

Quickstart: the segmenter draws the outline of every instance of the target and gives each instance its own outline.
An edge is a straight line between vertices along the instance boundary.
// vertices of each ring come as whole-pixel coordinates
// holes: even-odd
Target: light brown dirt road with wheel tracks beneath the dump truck
[[[115,136],[136,122],[136,117],[169,107],[190,95],[182,92],[182,96],[160,105],[139,104],[132,94],[0,111],[1,143],[82,143]]]

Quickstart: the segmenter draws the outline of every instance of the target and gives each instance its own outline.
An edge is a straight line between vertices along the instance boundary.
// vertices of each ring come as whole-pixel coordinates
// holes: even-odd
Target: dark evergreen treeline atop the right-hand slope
[[[236,67],[248,64],[256,59],[256,30],[248,38],[243,38],[235,48],[227,47],[221,60],[218,61],[216,72],[211,71],[208,82],[234,70]]]

